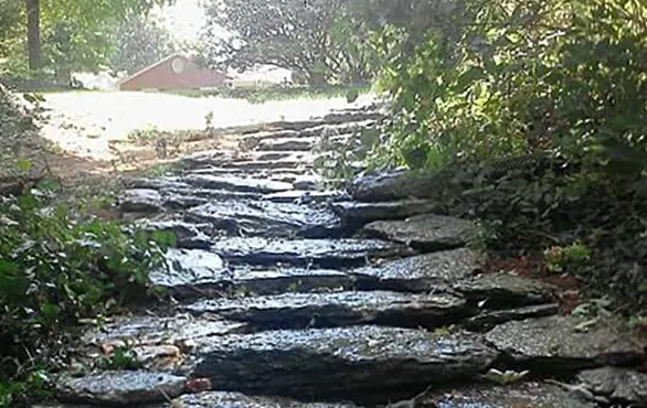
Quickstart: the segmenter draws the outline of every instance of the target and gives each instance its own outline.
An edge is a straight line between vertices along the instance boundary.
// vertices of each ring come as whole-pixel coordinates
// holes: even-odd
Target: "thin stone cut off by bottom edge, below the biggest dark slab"
[[[247,396],[240,393],[202,393],[177,399],[182,408],[354,408],[350,404],[299,402],[279,397]]]

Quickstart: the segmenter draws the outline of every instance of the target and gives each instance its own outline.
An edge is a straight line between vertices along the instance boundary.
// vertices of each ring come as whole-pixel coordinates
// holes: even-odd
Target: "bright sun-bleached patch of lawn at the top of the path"
[[[78,92],[45,95],[50,122],[43,136],[65,151],[97,160],[109,160],[110,140],[126,139],[137,129],[204,129],[205,116],[213,112],[214,127],[263,124],[276,120],[307,120],[331,109],[360,107],[373,101],[361,95],[346,98],[303,98],[251,104],[243,99],[191,98],[169,94],[125,92]]]

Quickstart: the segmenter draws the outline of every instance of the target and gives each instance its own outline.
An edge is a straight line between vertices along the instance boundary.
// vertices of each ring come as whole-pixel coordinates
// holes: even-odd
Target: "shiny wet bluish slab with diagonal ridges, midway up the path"
[[[268,201],[212,202],[189,210],[187,216],[235,235],[322,238],[341,233],[341,221],[327,208]]]

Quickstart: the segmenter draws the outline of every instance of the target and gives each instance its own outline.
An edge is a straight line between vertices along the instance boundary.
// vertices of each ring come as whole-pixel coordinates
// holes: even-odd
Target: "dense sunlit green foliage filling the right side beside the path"
[[[647,307],[638,244],[647,232],[647,6],[427,3],[436,20],[409,28],[388,19],[368,41],[394,100],[391,138],[372,162],[463,163],[448,207],[479,218],[490,249],[581,241],[592,251],[593,289]],[[489,160],[537,151],[555,164],[495,181],[479,174]]]

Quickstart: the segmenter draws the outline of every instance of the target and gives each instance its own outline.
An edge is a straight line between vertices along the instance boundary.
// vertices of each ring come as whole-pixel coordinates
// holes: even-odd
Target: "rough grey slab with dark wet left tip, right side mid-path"
[[[358,288],[424,292],[468,278],[478,268],[478,255],[468,248],[402,258],[354,269]]]

